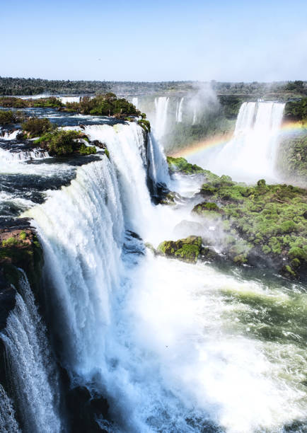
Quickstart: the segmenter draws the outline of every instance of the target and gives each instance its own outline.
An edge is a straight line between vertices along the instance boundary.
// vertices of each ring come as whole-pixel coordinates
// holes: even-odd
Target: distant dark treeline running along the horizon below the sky
[[[48,95],[91,95],[112,91],[118,96],[138,96],[154,93],[183,93],[197,91],[210,85],[219,95],[236,96],[284,96],[295,98],[307,95],[307,81],[279,81],[274,83],[231,83],[210,81],[161,81],[156,83],[136,81],[70,81],[0,77],[0,95],[34,96]]]

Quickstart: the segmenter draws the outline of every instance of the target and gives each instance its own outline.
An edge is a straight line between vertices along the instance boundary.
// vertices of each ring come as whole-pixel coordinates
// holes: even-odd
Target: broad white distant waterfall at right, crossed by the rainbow
[[[233,138],[212,158],[191,158],[209,170],[234,180],[276,180],[275,161],[284,103],[243,103]]]

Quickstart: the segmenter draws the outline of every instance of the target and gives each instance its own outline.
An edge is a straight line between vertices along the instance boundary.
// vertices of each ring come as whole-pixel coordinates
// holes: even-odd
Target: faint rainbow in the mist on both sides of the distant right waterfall
[[[282,134],[294,134],[296,132],[306,131],[306,126],[304,127],[301,122],[285,122],[282,127],[280,127],[280,132]],[[179,156],[192,156],[195,154],[199,154],[200,152],[212,149],[213,147],[222,146],[229,142],[233,137],[233,132],[228,132],[226,134],[214,135],[213,137],[209,137],[208,139],[202,140],[201,142],[192,143],[183,149],[179,149],[178,151],[174,151],[169,154],[169,156],[173,156],[178,158]]]

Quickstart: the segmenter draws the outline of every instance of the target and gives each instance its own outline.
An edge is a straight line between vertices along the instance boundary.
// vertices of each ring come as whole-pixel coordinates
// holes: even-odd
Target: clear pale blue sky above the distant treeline
[[[307,79],[306,0],[0,0],[0,76]]]

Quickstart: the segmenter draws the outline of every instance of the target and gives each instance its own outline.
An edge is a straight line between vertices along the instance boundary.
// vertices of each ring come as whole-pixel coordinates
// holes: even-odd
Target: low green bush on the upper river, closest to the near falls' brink
[[[52,132],[46,132],[34,144],[40,144],[43,149],[47,149],[51,156],[70,155],[74,152],[82,155],[95,154],[95,146],[86,146],[80,139],[86,139],[83,132],[71,131],[65,129],[56,129]]]

